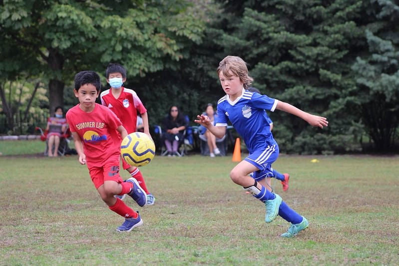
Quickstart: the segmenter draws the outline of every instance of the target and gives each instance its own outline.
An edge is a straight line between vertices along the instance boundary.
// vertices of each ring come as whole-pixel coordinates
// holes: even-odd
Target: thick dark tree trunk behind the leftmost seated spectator
[[[53,116],[56,106],[64,106],[63,95],[65,83],[58,78],[62,76],[61,73],[64,64],[64,58],[57,50],[49,48],[47,63],[54,73],[54,78],[51,78],[50,82],[48,83],[49,113],[50,116]]]

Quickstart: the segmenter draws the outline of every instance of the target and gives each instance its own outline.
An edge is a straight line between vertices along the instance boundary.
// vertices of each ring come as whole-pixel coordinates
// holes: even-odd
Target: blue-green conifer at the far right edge
[[[399,6],[390,0],[371,3],[375,5],[376,21],[365,34],[370,55],[358,57],[352,66],[357,93],[363,95],[355,105],[375,149],[389,152],[394,148],[399,127]]]

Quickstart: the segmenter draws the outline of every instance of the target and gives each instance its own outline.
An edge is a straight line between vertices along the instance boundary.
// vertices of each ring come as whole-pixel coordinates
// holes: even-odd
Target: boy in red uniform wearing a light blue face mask
[[[105,77],[111,88],[101,92],[101,104],[107,106],[119,117],[128,134],[136,132],[137,112],[139,112],[143,119],[143,132],[152,139],[148,127],[147,109],[134,90],[122,87],[123,82],[126,81],[126,69],[120,64],[111,63],[105,70]],[[137,167],[128,165],[124,160],[122,160],[122,167],[126,169],[144,189],[147,194],[147,205],[153,205],[155,198],[148,191],[140,170]],[[123,200],[124,195],[119,198]]]

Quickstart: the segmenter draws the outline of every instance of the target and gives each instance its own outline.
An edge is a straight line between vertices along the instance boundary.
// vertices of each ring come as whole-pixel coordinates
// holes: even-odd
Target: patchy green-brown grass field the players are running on
[[[276,192],[310,223],[294,239],[231,182],[234,165],[156,156],[141,168],[155,205],[126,199],[144,225],[118,233],[77,157],[2,156],[0,265],[399,265],[398,156],[281,155],[290,189]]]

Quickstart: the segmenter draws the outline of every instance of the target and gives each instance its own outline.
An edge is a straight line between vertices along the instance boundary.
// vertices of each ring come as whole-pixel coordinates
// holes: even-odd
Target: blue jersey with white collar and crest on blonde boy
[[[227,126],[230,121],[244,139],[249,153],[274,145],[270,118],[265,110],[274,111],[278,100],[243,89],[234,102],[228,95],[218,101],[216,126]]]

